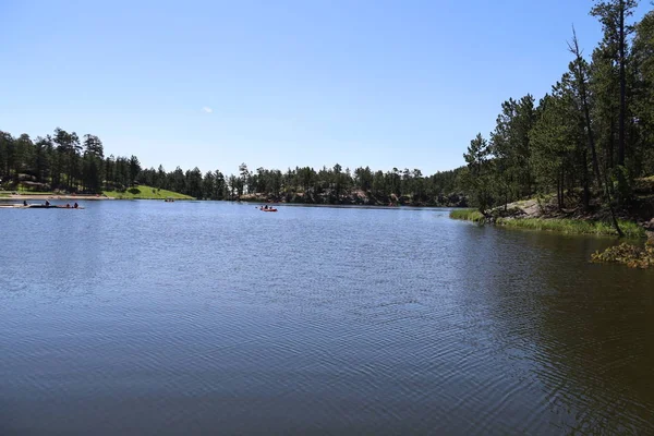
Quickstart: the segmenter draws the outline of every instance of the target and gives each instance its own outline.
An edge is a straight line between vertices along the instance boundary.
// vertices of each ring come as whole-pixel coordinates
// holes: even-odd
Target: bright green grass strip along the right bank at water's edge
[[[456,209],[450,213],[452,219],[483,222],[484,216],[475,209]],[[498,226],[516,229],[556,231],[567,234],[617,235],[616,229],[605,221],[592,221],[569,218],[497,218]],[[645,230],[635,222],[619,220],[620,229],[627,238],[644,238]]]

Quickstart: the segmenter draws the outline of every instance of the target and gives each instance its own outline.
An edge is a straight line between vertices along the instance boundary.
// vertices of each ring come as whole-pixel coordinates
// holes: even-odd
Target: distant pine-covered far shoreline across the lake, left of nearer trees
[[[144,169],[136,156],[105,156],[98,136],[56,129],[32,140],[0,131],[0,190],[27,187],[77,193],[124,192],[145,184],[205,199],[270,199],[323,204],[411,204],[465,206],[461,194],[463,169],[425,177],[419,169],[351,171],[335,165],[287,171],[239,167],[237,174],[198,168],[166,171]]]

